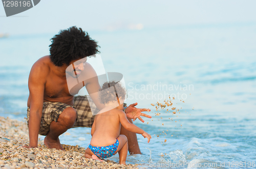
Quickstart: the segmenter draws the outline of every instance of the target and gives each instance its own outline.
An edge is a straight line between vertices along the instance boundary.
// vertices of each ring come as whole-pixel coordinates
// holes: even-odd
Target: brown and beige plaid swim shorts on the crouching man
[[[91,105],[91,106],[90,106]],[[42,118],[39,129],[40,135],[47,135],[52,121],[57,122],[61,112],[68,107],[74,107],[77,112],[77,120],[74,127],[92,127],[95,116],[92,111],[98,111],[90,96],[75,96],[74,105],[61,102],[44,102]],[[29,121],[30,108],[27,109],[27,122]]]

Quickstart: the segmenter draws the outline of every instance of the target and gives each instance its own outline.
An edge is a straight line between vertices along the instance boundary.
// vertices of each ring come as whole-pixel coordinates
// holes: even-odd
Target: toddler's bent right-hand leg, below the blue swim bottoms
[[[119,145],[115,152],[115,154],[118,152],[119,154],[119,164],[125,164],[127,152],[128,152],[128,143],[127,143],[127,137],[125,135],[119,135],[117,137]]]

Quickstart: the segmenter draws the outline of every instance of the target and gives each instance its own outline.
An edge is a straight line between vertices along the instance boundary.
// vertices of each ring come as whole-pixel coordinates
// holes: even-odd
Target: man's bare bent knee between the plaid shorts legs
[[[74,124],[77,119],[77,112],[73,107],[65,108],[59,115],[59,119],[61,121],[65,121],[65,123],[72,123]]]

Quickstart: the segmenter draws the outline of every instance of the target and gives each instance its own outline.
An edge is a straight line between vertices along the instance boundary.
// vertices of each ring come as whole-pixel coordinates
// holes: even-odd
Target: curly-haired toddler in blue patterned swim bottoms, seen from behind
[[[151,135],[126,118],[125,112],[122,111],[126,91],[119,82],[105,82],[98,93],[100,103],[105,107],[95,117],[91,143],[84,156],[100,160],[99,158],[108,158],[118,152],[119,163],[125,164],[128,144],[126,136],[120,134],[121,125],[128,131],[147,137],[147,143],[150,142]]]

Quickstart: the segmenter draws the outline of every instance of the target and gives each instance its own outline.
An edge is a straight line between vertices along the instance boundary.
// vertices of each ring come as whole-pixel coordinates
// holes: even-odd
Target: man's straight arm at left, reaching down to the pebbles
[[[38,62],[38,61],[37,61]],[[29,75],[29,147],[37,147],[38,133],[41,124],[42,106],[44,103],[44,91],[48,70],[45,70],[40,63],[35,63]]]

